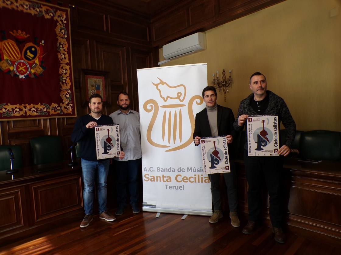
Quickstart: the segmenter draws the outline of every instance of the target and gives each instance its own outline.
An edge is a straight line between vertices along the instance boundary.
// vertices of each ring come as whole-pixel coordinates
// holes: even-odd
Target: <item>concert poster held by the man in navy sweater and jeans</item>
[[[119,125],[95,126],[97,159],[114,158],[120,156],[120,128]]]

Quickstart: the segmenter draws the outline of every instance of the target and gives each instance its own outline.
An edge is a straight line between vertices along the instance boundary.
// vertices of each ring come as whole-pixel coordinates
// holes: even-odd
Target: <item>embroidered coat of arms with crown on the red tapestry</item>
[[[30,35],[21,30],[13,30],[9,33],[15,41],[5,36],[2,37],[3,40],[0,41],[0,52],[2,52],[0,54],[0,69],[12,77],[19,77],[19,79],[38,78],[46,69],[43,66],[44,40],[38,43],[37,38],[34,37],[34,43],[26,43],[23,46]]]

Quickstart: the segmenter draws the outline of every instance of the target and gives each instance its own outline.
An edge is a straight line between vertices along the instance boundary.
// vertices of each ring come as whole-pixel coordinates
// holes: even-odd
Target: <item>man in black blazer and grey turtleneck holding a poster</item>
[[[213,86],[207,86],[203,90],[203,99],[206,107],[195,116],[195,127],[193,139],[195,145],[200,144],[201,137],[226,136],[228,144],[231,144],[236,131],[233,128],[235,121],[233,112],[230,108],[217,104],[217,90]],[[229,147],[230,148],[230,147]],[[229,149],[229,155],[233,155]],[[228,206],[230,210],[231,224],[239,227],[240,222],[237,215],[237,188],[236,188],[236,170],[233,160],[230,159],[230,173],[223,173],[228,195]],[[210,223],[216,223],[223,217],[221,210],[220,193],[220,174],[208,174],[211,183],[212,203],[214,207],[213,215],[210,217]]]

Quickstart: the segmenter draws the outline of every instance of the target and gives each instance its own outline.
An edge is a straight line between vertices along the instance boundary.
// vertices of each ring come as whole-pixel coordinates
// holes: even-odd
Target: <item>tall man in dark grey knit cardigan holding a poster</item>
[[[281,194],[283,156],[287,156],[290,153],[290,147],[295,138],[296,124],[284,100],[267,90],[266,78],[262,73],[256,72],[251,75],[250,89],[253,93],[240,102],[237,118],[233,123],[234,129],[236,131],[243,130],[250,115],[277,115],[279,125],[282,121],[286,129],[286,136],[284,144],[280,145],[281,147],[278,150],[278,157],[248,156],[247,142],[245,142],[244,163],[246,179],[249,184],[249,222],[243,228],[243,233],[252,234],[258,227],[258,220],[262,210],[260,198],[263,178],[265,178],[270,197],[269,214],[272,232],[275,233],[275,240],[277,242],[284,243],[286,239],[281,228],[283,215],[283,209],[281,208],[283,204]],[[245,140],[247,141],[247,139]]]

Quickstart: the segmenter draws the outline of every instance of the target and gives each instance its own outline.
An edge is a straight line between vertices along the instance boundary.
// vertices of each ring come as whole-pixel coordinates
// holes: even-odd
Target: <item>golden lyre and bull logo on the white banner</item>
[[[152,113],[147,140],[154,147],[165,148],[165,152],[181,150],[193,142],[193,106],[194,103],[201,105],[203,98],[194,95],[187,101],[185,85],[171,86],[160,78],[158,80],[157,83],[151,82],[151,89],[158,90],[162,105],[154,99],[143,105],[145,112]]]

